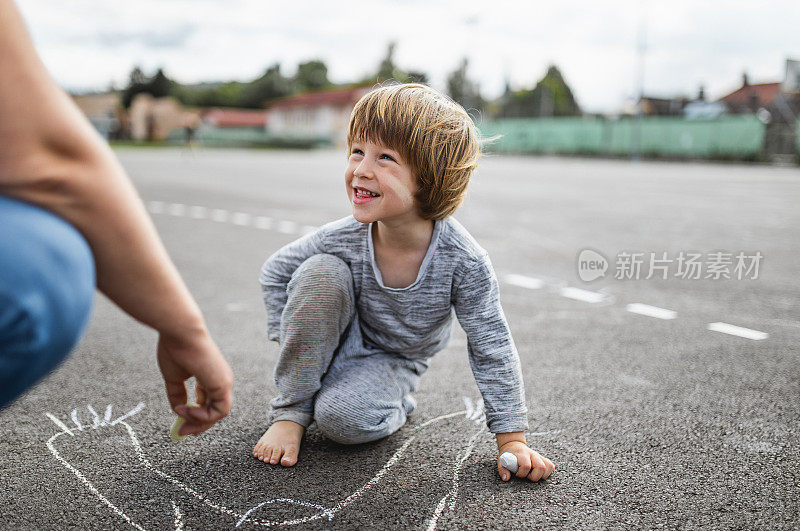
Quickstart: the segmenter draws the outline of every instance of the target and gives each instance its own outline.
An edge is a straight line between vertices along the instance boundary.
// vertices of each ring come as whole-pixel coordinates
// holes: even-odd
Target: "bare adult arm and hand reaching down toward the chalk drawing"
[[[110,148],[48,75],[11,0],[0,0],[0,194],[45,208],[92,249],[97,287],[159,333],[173,410],[198,434],[228,414],[233,375]],[[201,408],[186,408],[194,376]]]

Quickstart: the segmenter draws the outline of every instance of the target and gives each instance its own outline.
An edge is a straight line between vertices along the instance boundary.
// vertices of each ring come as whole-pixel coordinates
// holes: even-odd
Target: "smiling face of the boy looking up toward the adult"
[[[361,223],[422,219],[414,195],[419,189],[411,166],[400,153],[382,144],[353,142],[345,170],[353,217]],[[372,194],[377,194],[377,197]]]

